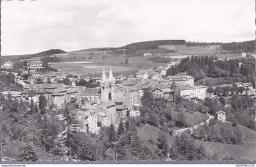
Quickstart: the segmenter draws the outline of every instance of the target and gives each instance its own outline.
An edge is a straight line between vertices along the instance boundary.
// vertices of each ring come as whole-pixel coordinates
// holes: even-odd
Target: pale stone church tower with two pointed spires
[[[101,101],[114,101],[115,100],[115,77],[113,77],[112,69],[108,74],[108,79],[105,76],[105,69],[103,68],[102,78],[101,78]]]

